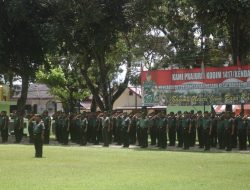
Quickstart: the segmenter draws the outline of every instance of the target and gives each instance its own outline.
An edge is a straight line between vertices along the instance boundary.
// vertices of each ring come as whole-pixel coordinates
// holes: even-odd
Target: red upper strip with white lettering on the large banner
[[[246,82],[250,78],[250,66],[242,66],[240,68],[237,66],[210,67],[205,68],[204,71],[202,73],[201,68],[143,71],[141,79],[144,82],[147,74],[150,73],[151,80],[159,86],[165,86],[180,85],[187,82],[218,84],[232,78]]]

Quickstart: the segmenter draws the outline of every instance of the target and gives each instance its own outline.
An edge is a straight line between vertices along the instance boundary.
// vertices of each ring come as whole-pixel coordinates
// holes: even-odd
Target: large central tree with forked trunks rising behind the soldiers
[[[111,110],[126,89],[133,61],[130,34],[154,4],[149,0],[76,0],[58,4],[55,22],[59,50],[78,56],[81,75],[101,110]],[[113,85],[114,73],[122,63],[127,67],[126,77]]]

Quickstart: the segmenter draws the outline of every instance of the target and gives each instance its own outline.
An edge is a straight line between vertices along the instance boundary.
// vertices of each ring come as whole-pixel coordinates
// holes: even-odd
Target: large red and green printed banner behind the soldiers
[[[250,66],[143,71],[144,105],[249,103]]]

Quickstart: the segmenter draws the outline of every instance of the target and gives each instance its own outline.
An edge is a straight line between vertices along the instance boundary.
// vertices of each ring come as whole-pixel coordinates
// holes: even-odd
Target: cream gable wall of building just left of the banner
[[[113,105],[113,109],[116,109],[117,107],[136,107],[136,97],[137,97],[137,106],[142,105],[142,99],[135,93],[132,93],[130,95],[129,89],[127,88],[123,94],[115,101]]]

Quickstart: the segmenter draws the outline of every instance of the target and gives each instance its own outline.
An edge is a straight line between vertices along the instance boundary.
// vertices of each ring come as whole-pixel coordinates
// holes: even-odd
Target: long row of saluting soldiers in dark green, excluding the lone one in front
[[[14,134],[17,143],[20,143],[23,136],[23,116],[17,113],[12,114],[14,119]],[[28,119],[32,115],[27,115]],[[130,144],[138,144],[142,148],[148,147],[148,135],[153,146],[160,148],[169,146],[189,147],[198,145],[204,150],[210,147],[226,149],[239,147],[240,150],[247,149],[247,139],[250,144],[250,120],[242,114],[235,116],[231,112],[215,114],[198,111],[181,113],[153,112],[147,114],[139,113],[127,114],[115,112],[103,113],[82,113],[65,114],[57,112],[53,115],[53,129],[59,143],[68,144],[69,139],[80,145],[88,142],[104,146],[110,143],[117,143],[124,147]],[[51,117],[45,111],[42,114],[45,126],[44,144],[49,144],[51,131]],[[8,140],[9,117],[6,112],[0,114],[0,131],[2,142]],[[28,125],[29,140],[33,143],[32,119]],[[178,143],[178,144],[177,144]]]

